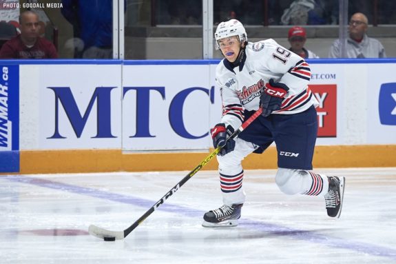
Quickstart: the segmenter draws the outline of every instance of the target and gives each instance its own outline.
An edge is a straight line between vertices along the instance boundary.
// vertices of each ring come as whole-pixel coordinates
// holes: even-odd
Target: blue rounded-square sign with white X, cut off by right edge
[[[396,125],[396,83],[381,85],[378,112],[382,125]]]

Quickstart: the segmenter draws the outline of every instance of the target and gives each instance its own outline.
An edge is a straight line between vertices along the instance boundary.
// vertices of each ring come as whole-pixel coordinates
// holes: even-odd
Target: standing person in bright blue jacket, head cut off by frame
[[[62,0],[62,14],[74,30],[74,58],[112,59],[112,0]]]

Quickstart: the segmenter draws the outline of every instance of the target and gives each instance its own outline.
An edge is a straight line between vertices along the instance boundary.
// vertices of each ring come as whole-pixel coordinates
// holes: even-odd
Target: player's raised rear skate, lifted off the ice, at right
[[[344,200],[345,177],[328,177],[329,192],[324,195],[327,214],[339,218]]]

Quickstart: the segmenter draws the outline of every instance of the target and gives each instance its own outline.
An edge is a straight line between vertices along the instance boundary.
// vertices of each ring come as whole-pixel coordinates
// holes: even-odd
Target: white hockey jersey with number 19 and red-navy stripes
[[[311,105],[319,105],[308,88],[311,70],[300,56],[290,52],[273,39],[249,42],[246,57],[240,65],[223,59],[216,68],[216,84],[222,97],[221,123],[239,128],[244,110],[258,110],[264,86],[273,79],[289,87],[280,110],[272,114],[296,114]]]

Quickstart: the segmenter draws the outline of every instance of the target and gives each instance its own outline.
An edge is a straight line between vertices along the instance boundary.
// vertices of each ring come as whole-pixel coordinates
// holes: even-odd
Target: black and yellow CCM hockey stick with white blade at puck
[[[242,132],[245,128],[247,128],[251,124],[251,122],[253,122],[261,113],[262,113],[262,108],[260,108],[252,116],[250,116],[249,119],[247,119],[247,121],[244,121],[244,123],[242,123],[242,125],[240,125],[238,130],[236,130],[236,132],[233,132],[233,134],[231,134],[231,136],[229,136],[227,141],[229,139],[236,138],[236,136],[238,136],[238,134],[240,134],[240,132]],[[201,161],[201,163],[199,163],[198,166],[194,167],[194,170],[191,170],[191,172],[189,172],[189,174],[187,174],[187,176],[185,176],[181,181],[178,182],[178,184],[176,184],[173,188],[171,188],[171,190],[169,190],[169,192],[167,192],[167,194],[165,194],[158,202],[156,202],[149,210],[147,210],[147,212],[145,212],[145,214],[143,214],[143,216],[140,216],[140,219],[138,219],[135,223],[133,223],[126,230],[124,230],[124,231],[110,231],[110,230],[105,230],[104,228],[98,227],[96,225],[90,225],[88,231],[90,232],[90,234],[92,234],[92,236],[97,236],[98,238],[103,238],[105,241],[115,241],[116,239],[125,238],[138,225],[140,225],[140,223],[145,221],[145,219],[147,219],[147,217],[150,214],[152,214],[152,212],[154,212],[158,207],[160,207],[160,205],[165,203],[165,201],[170,196],[172,196],[172,194],[174,194],[177,190],[179,190],[179,188],[182,187],[183,184],[185,184],[192,176],[194,176],[200,169],[202,169],[203,166],[205,166],[207,163],[209,163],[209,161],[211,161],[211,159],[213,159],[213,157],[215,157],[218,154],[218,152],[220,152],[221,149],[222,149],[222,147],[218,147],[215,150],[213,150],[213,152],[211,152],[211,154],[209,154],[209,156],[207,156],[203,161]]]

